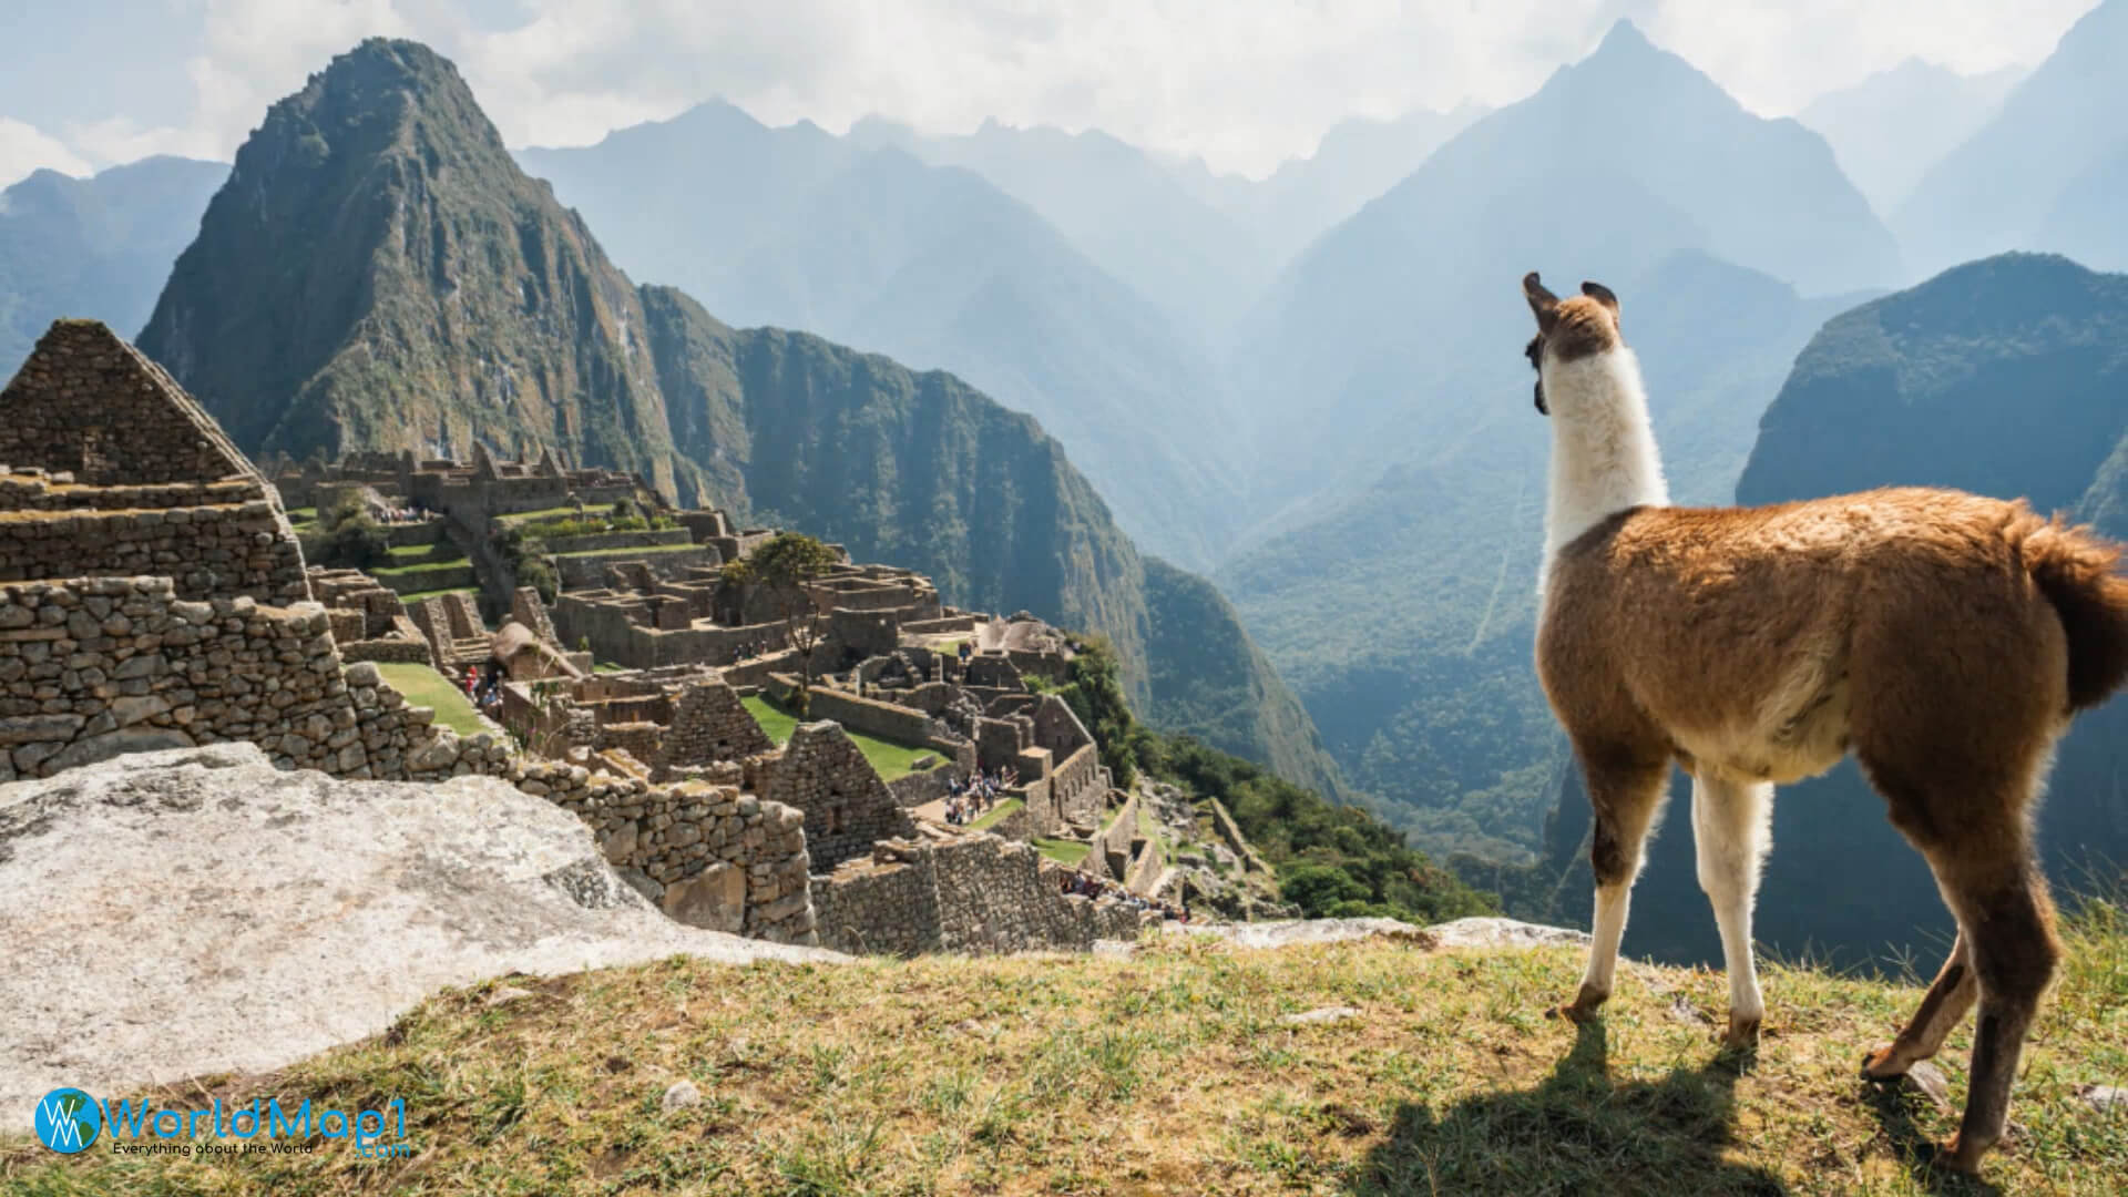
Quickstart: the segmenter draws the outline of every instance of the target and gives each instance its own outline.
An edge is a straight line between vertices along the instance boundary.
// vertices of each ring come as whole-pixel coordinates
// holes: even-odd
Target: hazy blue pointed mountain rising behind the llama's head
[[[1619,21],[1583,62],[1485,115],[1324,234],[1258,305],[1236,354],[1258,505],[1364,483],[1458,443],[1513,379],[1517,279],[1634,277],[1677,249],[1805,294],[1881,285],[1892,234],[1826,143],[1766,121]],[[1524,364],[1526,368],[1526,364]]]

